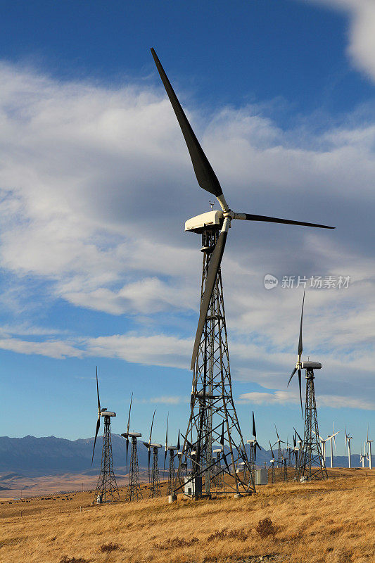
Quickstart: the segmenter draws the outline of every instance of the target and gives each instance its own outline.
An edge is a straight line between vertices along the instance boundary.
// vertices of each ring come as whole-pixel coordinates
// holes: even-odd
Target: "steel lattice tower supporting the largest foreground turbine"
[[[202,232],[203,274],[201,296],[205,290],[205,281],[211,253],[219,236],[219,227],[205,227]],[[221,443],[222,423],[224,422],[224,443]],[[186,439],[187,438],[187,439]],[[227,492],[251,493],[255,491],[253,478],[245,483],[236,474],[236,464],[244,462],[250,472],[239,420],[234,407],[231,390],[231,373],[225,322],[224,296],[221,270],[217,273],[212,291],[210,307],[205,319],[202,339],[199,346],[196,366],[193,371],[191,391],[191,414],[186,430],[183,454],[180,459],[174,492],[179,492],[182,472],[182,460],[189,464],[191,479],[205,477],[205,492],[210,492],[212,477],[212,446],[220,443],[227,455],[225,473],[231,476]],[[195,451],[195,455],[191,455]]]

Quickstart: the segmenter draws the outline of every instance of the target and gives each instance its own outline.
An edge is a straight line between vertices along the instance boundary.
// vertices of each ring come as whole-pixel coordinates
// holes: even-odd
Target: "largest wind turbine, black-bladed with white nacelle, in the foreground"
[[[230,474],[234,478],[234,491],[238,495],[240,485],[243,491],[252,491],[245,483],[241,483],[235,471],[236,463],[239,462],[240,458],[243,459],[243,455],[246,457],[246,450],[231,390],[227,328],[220,269],[231,221],[237,219],[272,222],[306,227],[322,227],[324,229],[332,229],[333,227],[317,223],[279,219],[278,217],[268,217],[266,215],[237,213],[231,210],[224,198],[220,182],[212,170],[208,158],[205,156],[176,94],[174,94],[172,85],[155,50],[151,49],[151,53],[182,130],[198,184],[202,189],[216,196],[221,208],[219,211],[211,210],[208,213],[193,217],[186,221],[185,224],[186,231],[196,232],[202,236],[203,272],[201,309],[191,356],[191,369],[193,370],[191,415],[186,430],[186,436],[193,434],[191,445],[195,454],[191,455],[192,449],[186,448],[186,438],[182,451],[185,459],[191,463],[191,479],[193,480],[202,474],[206,474],[208,479],[206,479],[205,483],[210,483],[209,468],[211,467],[212,444],[218,437],[221,420],[224,419],[226,423],[226,447],[231,457],[232,470]],[[210,314],[208,315],[209,311]],[[212,367],[215,367],[215,369],[212,369]],[[243,461],[248,464],[247,458],[243,459]],[[180,458],[180,466],[181,463],[182,457]],[[206,493],[208,492],[206,489]]]

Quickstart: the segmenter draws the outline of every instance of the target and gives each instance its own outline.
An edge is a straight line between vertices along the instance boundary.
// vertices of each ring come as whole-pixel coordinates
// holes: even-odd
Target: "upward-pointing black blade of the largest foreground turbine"
[[[184,110],[182,109],[176,94],[174,94],[170,81],[165,74],[163,66],[160,63],[155,50],[151,49],[151,53],[153,60],[155,61],[156,68],[158,68],[160,78],[163,81],[165,90],[167,91],[170,103],[172,103],[172,108],[174,110],[174,113],[176,114],[177,121],[179,122],[179,126],[182,130],[182,134],[184,135],[198,184],[201,186],[201,188],[209,191],[210,194],[213,194],[214,196],[221,196],[222,189],[220,187],[219,180],[217,179],[215,172],[212,170],[212,167],[208,162],[205,153],[203,153],[202,147],[199,144],[198,139],[193,132],[193,129],[191,129],[191,125],[186,118]]]

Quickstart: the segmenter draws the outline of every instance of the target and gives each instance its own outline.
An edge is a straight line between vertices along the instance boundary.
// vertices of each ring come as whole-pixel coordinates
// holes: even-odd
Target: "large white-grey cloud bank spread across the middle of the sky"
[[[0,65],[0,94],[4,272],[30,283],[41,308],[62,298],[146,324],[106,336],[41,333],[39,342],[5,331],[0,347],[189,367],[201,253],[183,224],[209,197],[163,91],[61,84]],[[203,122],[203,144],[236,210],[338,227],[232,224],[222,273],[234,379],[277,389],[295,362],[302,291],[265,291],[265,273],[350,275],[348,290],[308,291],[304,348],[329,374],[319,379],[323,396],[336,396],[340,382],[364,404],[374,365],[375,123],[357,123],[354,113],[319,135],[306,122],[303,133],[283,131],[254,106],[222,108]]]

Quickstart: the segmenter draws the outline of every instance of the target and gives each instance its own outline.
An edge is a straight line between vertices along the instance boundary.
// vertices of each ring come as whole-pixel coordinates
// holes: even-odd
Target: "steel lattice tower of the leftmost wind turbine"
[[[98,495],[101,495],[101,502],[111,502],[120,500],[120,493],[117,488],[115,473],[113,472],[112,443],[110,441],[110,417],[104,417],[103,447],[101,448],[101,472],[94,502]]]

